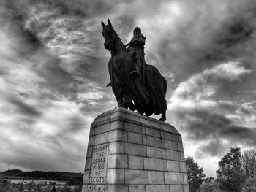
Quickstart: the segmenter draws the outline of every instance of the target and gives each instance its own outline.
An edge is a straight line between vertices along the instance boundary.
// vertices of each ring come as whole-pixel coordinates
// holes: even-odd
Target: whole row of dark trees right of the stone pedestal
[[[219,161],[217,180],[205,178],[203,168],[186,158],[190,192],[256,192],[256,151],[231,148]]]

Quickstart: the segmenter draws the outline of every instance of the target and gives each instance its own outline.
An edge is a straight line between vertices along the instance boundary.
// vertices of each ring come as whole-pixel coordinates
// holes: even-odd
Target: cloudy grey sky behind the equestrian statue
[[[167,123],[208,177],[230,147],[255,148],[256,1],[0,0],[0,171],[83,172],[91,122],[116,107],[107,18],[124,43],[147,35]]]

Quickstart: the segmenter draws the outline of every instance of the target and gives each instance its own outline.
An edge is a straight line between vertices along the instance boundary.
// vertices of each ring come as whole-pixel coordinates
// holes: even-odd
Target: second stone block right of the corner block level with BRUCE
[[[144,158],[144,169],[167,171],[166,160],[159,158]]]

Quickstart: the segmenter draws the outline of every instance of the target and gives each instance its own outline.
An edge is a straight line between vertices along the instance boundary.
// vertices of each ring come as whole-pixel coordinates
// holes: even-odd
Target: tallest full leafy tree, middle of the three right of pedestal
[[[222,191],[240,192],[242,190],[244,186],[244,172],[240,148],[230,148],[230,152],[219,161],[217,180]]]

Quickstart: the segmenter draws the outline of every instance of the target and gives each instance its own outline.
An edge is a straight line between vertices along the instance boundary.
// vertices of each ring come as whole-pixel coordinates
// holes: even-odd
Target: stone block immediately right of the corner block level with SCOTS
[[[148,184],[148,172],[143,170],[125,169],[125,183],[132,185]]]

